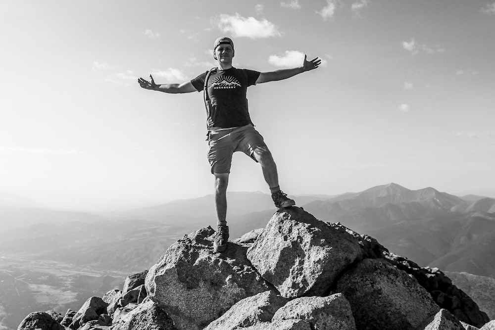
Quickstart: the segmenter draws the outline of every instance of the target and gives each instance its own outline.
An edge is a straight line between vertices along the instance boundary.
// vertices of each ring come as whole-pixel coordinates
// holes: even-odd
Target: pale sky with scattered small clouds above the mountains
[[[213,191],[202,93],[234,66],[322,65],[248,88],[290,195],[391,182],[495,197],[494,0],[0,0],[0,191],[110,210]],[[269,192],[234,155],[229,191]]]

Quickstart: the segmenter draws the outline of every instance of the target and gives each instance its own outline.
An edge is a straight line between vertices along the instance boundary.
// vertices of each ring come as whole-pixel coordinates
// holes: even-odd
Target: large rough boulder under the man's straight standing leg
[[[172,244],[151,267],[146,290],[181,330],[203,329],[239,300],[269,290],[246,258],[247,246],[228,242],[213,252],[211,228]]]

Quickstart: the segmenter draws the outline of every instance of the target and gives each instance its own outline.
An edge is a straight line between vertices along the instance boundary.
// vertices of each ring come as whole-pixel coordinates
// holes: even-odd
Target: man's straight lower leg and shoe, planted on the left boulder
[[[223,252],[229,241],[229,227],[227,226],[227,186],[229,173],[213,173],[215,176],[215,210],[217,213],[217,232],[213,241],[213,251]]]

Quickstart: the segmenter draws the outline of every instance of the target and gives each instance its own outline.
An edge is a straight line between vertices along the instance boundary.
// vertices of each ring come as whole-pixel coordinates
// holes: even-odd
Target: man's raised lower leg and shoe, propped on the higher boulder
[[[293,199],[288,198],[287,194],[280,190],[277,165],[275,164],[272,153],[268,150],[268,147],[264,145],[254,149],[254,158],[261,165],[263,177],[265,178],[268,187],[270,187],[275,206],[281,208],[296,205],[296,202]]]

